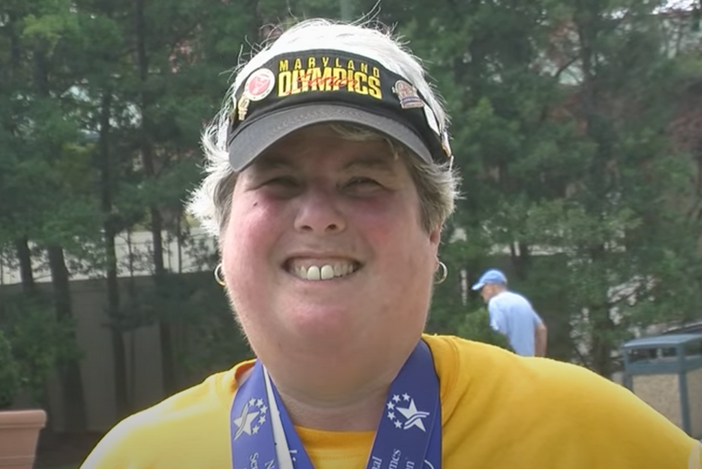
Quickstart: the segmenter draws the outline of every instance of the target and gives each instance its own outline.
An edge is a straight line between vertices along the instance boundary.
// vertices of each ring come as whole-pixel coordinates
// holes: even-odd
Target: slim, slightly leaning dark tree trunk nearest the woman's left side
[[[141,156],[145,175],[148,179],[155,180],[157,175],[154,170],[154,151],[151,143],[152,123],[149,116],[151,98],[150,93],[148,93],[146,89],[149,60],[146,51],[144,0],[135,0],[135,2],[137,60],[139,78],[141,81]],[[161,218],[161,211],[156,204],[150,207],[150,216],[153,240],[154,286],[157,291],[157,298],[162,298],[164,295],[164,276],[166,275],[166,269],[164,267],[164,245],[161,234],[163,232],[163,220]],[[163,373],[164,392],[166,392],[166,395],[171,395],[176,391],[176,370],[173,364],[173,339],[171,338],[171,328],[168,321],[164,320],[164,317],[159,319],[159,333],[161,338],[161,371]]]

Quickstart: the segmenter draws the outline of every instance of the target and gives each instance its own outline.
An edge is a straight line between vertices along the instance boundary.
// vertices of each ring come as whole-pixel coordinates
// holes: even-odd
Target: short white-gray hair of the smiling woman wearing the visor
[[[234,84],[230,86],[224,104],[213,122],[205,129],[201,145],[205,153],[206,176],[199,187],[192,191],[187,211],[199,220],[201,226],[214,237],[219,237],[228,223],[231,197],[237,174],[229,163],[227,126],[232,111],[232,96],[244,79],[268,60],[281,53],[300,52],[319,48],[338,49],[374,59],[416,86],[434,111],[440,128],[448,123],[448,116],[439,96],[425,79],[425,70],[418,58],[405,48],[390,32],[350,25],[329,20],[305,20],[293,25],[270,45],[238,68]],[[362,131],[353,126],[336,126],[340,136],[352,140],[379,138],[378,133]],[[391,143],[395,154],[408,164],[420,197],[422,226],[432,230],[453,213],[458,190],[458,176],[450,164],[425,164],[417,157],[408,157],[409,150]]]

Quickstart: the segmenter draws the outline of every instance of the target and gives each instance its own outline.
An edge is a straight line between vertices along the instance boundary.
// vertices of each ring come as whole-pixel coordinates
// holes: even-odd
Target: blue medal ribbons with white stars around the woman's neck
[[[266,371],[257,360],[234,395],[232,469],[314,469],[282,399],[272,383],[267,388],[267,382]],[[279,415],[274,415],[270,404]],[[277,418],[285,442],[274,437]],[[439,378],[428,345],[420,341],[390,386],[366,469],[440,469],[441,425]],[[288,461],[279,461],[278,454]]]

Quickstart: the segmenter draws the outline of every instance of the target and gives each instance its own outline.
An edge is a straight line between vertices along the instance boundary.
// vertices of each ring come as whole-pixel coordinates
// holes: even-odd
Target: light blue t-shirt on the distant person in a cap
[[[487,303],[490,326],[507,336],[517,355],[534,356],[536,326],[541,317],[524,296],[512,291],[503,291],[490,298]]]

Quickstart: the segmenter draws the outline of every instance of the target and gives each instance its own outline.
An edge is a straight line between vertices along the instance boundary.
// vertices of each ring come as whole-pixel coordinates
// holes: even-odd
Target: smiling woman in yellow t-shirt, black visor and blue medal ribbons
[[[347,67],[277,92],[324,58],[376,70],[377,92]],[[256,359],[126,418],[83,468],[685,468],[696,442],[625,388],[423,332],[458,178],[441,101],[390,35],[302,22],[226,103],[190,211]]]

